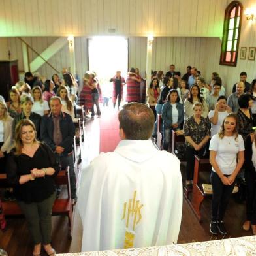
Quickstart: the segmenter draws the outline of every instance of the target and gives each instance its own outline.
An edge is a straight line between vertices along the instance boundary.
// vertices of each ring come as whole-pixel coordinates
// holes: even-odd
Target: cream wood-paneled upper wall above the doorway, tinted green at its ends
[[[226,6],[227,0],[1,0],[0,36],[219,37]]]

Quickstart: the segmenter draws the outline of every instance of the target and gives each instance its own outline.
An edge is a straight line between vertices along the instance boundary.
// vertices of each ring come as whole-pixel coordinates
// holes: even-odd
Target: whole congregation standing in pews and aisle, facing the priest
[[[224,216],[234,188],[236,176],[244,169],[247,185],[247,215],[243,228],[256,234],[256,80],[246,81],[246,72],[234,84],[233,93],[226,97],[221,77],[212,73],[209,84],[195,67],[187,67],[181,76],[175,65],[164,75],[152,72],[148,88],[139,70],[131,68],[125,79],[117,71],[112,82],[112,103],[120,110],[126,85],[126,101],[147,104],[163,119],[163,150],[170,146],[172,130],[184,130],[187,160],[185,185],[193,184],[194,155],[207,155],[212,164],[212,234],[227,234]],[[40,80],[30,72],[24,82],[17,83],[8,102],[0,98],[0,163],[1,172],[14,187],[16,198],[29,223],[34,241],[33,255],[39,255],[43,246],[48,255],[55,251],[50,244],[50,213],[56,198],[54,176],[59,166],[70,167],[71,197],[76,202],[76,177],[72,143],[75,135],[76,108],[84,106],[91,117],[101,116],[103,102],[101,86],[95,72],[86,72],[78,93],[74,75],[66,70],[63,79],[54,74],[52,79]],[[147,97],[146,97],[147,96]],[[79,106],[80,105],[80,106]],[[12,127],[12,129],[10,129]],[[41,161],[42,159],[46,159]],[[36,193],[39,187],[44,187]],[[7,191],[10,194],[10,190]],[[10,195],[8,198],[10,199]],[[42,210],[42,211],[41,211]],[[41,211],[42,214],[36,214]],[[44,229],[38,224],[44,221]]]

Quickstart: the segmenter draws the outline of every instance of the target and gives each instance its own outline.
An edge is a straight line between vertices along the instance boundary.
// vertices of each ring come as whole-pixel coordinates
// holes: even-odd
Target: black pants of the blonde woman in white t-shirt
[[[234,182],[232,185],[224,185],[221,178],[219,178],[219,175],[213,171],[210,179],[212,183],[212,221],[222,221],[229,198],[234,189]]]

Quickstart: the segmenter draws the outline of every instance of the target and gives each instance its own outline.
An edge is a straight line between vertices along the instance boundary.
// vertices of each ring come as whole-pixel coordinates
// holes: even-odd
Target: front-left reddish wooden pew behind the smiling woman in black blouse
[[[69,219],[69,238],[72,239],[72,227],[73,227],[73,209],[72,209],[72,199],[71,199],[71,186],[69,179],[69,167],[66,170],[61,170],[56,176],[57,185],[67,186],[67,197],[57,198],[54,202],[52,208],[52,215],[65,215]],[[0,174],[0,187],[10,187],[7,182],[6,174]],[[23,215],[22,210],[18,206],[16,201],[2,201],[3,212],[5,216],[18,216]]]

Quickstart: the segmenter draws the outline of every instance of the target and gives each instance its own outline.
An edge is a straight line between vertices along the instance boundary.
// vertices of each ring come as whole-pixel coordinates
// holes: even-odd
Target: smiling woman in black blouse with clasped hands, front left
[[[53,256],[56,253],[51,245],[51,217],[56,199],[54,176],[59,166],[51,148],[36,137],[32,121],[24,119],[18,123],[16,146],[7,159],[7,179],[29,225],[33,255],[40,255],[43,245],[46,253]]]

